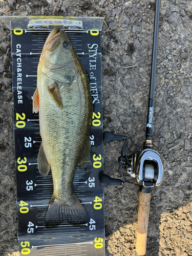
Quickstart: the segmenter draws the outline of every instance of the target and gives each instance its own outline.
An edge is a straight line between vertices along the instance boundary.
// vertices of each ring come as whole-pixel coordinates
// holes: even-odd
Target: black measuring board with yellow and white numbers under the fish
[[[15,168],[17,182],[18,244],[20,255],[105,255],[102,141],[102,87],[100,32],[66,31],[90,80],[93,117],[90,129],[93,166],[77,167],[73,190],[86,208],[89,222],[64,223],[45,228],[44,218],[53,194],[51,172],[42,176],[37,168],[41,142],[38,113],[32,113],[37,66],[50,31],[11,30],[14,96]]]

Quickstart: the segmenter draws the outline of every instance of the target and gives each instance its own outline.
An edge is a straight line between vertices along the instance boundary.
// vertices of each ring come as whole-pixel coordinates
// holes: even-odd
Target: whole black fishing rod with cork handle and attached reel
[[[138,228],[136,241],[136,256],[146,255],[147,242],[147,228],[148,217],[150,213],[151,191],[152,187],[159,186],[163,180],[163,163],[161,156],[153,150],[152,142],[152,121],[154,113],[154,92],[155,92],[155,78],[156,78],[156,63],[157,63],[157,45],[158,45],[158,30],[159,30],[159,13],[160,0],[156,0],[154,35],[153,35],[153,52],[152,52],[152,69],[150,81],[150,96],[148,100],[146,135],[143,143],[142,152],[134,152],[131,156],[123,156],[123,151],[126,145],[127,137],[122,135],[114,135],[110,132],[105,132],[104,143],[111,141],[122,141],[124,144],[119,157],[120,173],[122,180],[113,179],[108,175],[103,174],[101,177],[101,186],[109,185],[124,185],[124,176],[122,168],[126,170],[127,174],[136,178],[140,185],[139,188],[139,206],[138,206]]]

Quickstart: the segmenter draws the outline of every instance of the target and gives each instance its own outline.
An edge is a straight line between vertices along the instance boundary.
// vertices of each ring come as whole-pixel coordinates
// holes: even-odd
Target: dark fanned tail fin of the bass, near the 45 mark
[[[52,196],[45,217],[45,226],[54,227],[62,223],[86,224],[87,211],[73,194],[68,201],[58,200]]]

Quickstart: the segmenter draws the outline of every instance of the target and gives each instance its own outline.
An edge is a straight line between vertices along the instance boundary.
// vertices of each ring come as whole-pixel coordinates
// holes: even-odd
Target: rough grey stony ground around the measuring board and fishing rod
[[[112,31],[105,30],[114,28]],[[155,1],[0,0],[0,15],[102,16],[103,128],[142,148],[150,83]],[[0,24],[0,255],[18,255],[10,31]],[[109,27],[109,28],[108,28]],[[161,0],[154,149],[164,180],[152,192],[147,256],[192,255],[192,2]],[[132,68],[127,68],[134,66]],[[104,172],[118,178],[122,142],[104,145]],[[138,184],[104,188],[106,256],[135,255]]]

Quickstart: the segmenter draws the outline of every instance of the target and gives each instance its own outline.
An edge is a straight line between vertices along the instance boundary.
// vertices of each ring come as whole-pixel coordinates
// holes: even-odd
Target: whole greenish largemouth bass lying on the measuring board
[[[38,169],[47,176],[51,168],[54,185],[45,224],[86,223],[86,209],[72,183],[77,165],[91,159],[92,99],[86,71],[58,27],[49,34],[39,59],[33,112],[39,112],[42,138]]]

